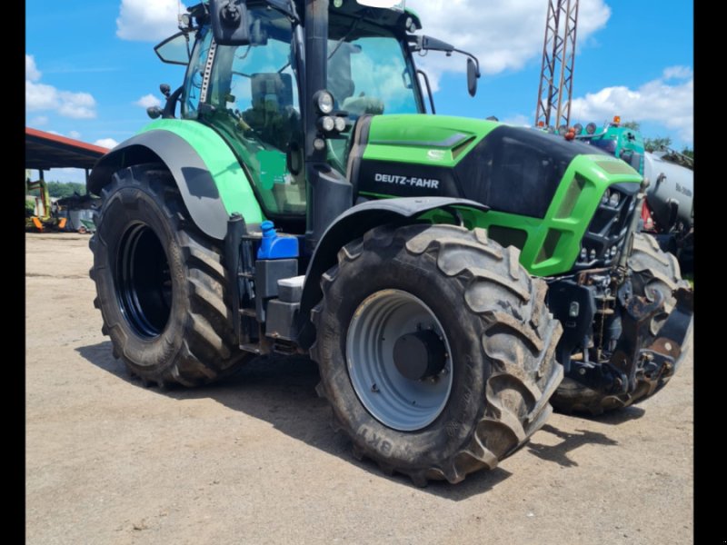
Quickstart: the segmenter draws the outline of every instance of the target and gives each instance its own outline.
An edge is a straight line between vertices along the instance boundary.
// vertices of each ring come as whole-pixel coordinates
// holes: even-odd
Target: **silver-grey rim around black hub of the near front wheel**
[[[443,344],[443,367],[415,380],[394,362],[397,341],[433,333]],[[398,349],[397,349],[398,350]],[[362,302],[346,335],[346,362],[354,391],[373,418],[397,431],[416,431],[442,413],[452,391],[449,341],[432,310],[411,293],[375,292]]]

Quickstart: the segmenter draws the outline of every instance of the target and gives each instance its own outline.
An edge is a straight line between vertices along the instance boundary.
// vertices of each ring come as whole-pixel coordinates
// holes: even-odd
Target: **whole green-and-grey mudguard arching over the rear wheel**
[[[88,178],[88,190],[100,194],[118,170],[162,162],[174,176],[194,224],[223,240],[227,220],[241,213],[245,223],[264,221],[253,188],[233,152],[219,134],[202,124],[160,120],[105,154]]]

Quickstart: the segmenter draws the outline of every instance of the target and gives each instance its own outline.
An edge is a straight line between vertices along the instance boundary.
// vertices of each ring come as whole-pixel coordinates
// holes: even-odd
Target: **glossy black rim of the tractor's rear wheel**
[[[124,233],[115,284],[124,320],[140,337],[158,337],[172,309],[172,276],[164,247],[148,225],[136,223]]]

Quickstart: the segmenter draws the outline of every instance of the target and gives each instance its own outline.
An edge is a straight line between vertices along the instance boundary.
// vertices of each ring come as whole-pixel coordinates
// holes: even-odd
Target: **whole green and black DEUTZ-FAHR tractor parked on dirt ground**
[[[550,401],[600,412],[659,390],[692,293],[635,234],[629,165],[426,114],[414,53],[466,55],[471,94],[479,64],[383,4],[210,0],[180,17],[156,53],[184,84],[90,175],[95,305],[144,384],[307,354],[356,456],[459,482],[521,447]]]

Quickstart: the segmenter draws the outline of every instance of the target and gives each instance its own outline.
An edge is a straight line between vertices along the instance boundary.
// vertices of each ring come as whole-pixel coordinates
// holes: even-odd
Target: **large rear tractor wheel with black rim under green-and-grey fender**
[[[187,220],[171,174],[125,168],[102,197],[90,273],[114,356],[159,386],[233,372],[245,355],[234,342],[222,253]]]

